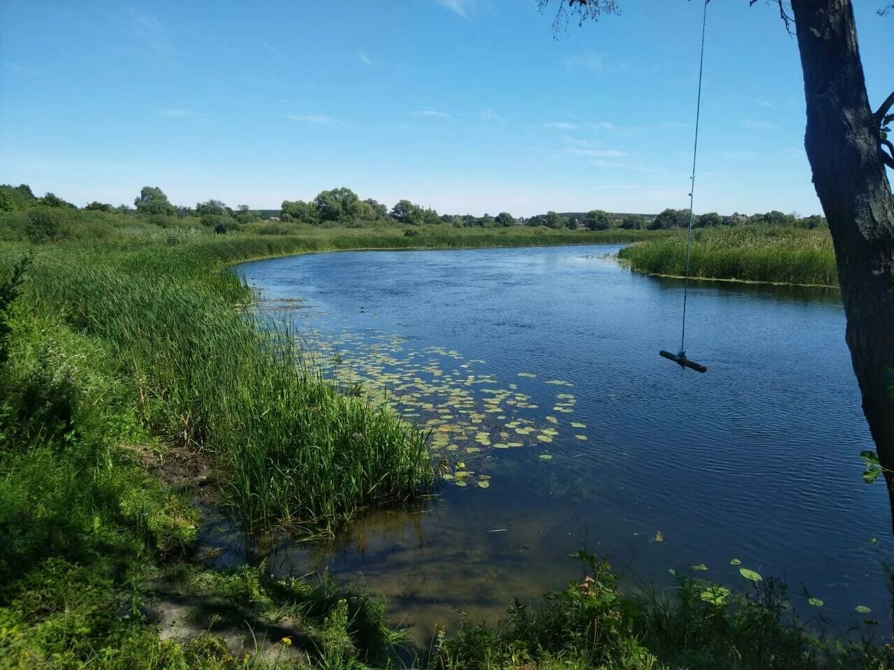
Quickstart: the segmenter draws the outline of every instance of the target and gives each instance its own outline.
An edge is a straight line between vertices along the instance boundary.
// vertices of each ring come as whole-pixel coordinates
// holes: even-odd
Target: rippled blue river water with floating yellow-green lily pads
[[[603,258],[616,250],[241,266],[326,374],[431,430],[449,478],[433,504],[367,514],[332,543],[283,540],[274,568],[362,574],[420,640],[456,609],[560,586],[585,541],[631,587],[685,564],[737,584],[738,559],[788,577],[796,606],[803,582],[834,620],[881,616],[889,512],[860,479],[872,445],[837,294],[696,283],[700,376],[657,356],[676,347],[681,284]]]

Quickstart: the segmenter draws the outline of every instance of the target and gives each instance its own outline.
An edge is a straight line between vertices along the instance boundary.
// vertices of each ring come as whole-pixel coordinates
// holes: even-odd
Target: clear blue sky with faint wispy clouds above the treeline
[[[882,4],[856,0],[873,106]],[[554,36],[536,0],[3,0],[0,182],[79,205],[148,184],[253,208],[342,185],[477,215],[686,207],[701,4],[620,5]],[[696,211],[819,212],[795,39],[747,0],[713,0],[707,34]]]

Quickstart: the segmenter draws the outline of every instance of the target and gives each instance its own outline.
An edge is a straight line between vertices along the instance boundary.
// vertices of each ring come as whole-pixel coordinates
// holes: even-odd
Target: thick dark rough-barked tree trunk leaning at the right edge
[[[792,0],[805,147],[829,221],[863,411],[894,513],[894,197],[866,96],[849,0]],[[855,454],[856,455],[856,454]]]

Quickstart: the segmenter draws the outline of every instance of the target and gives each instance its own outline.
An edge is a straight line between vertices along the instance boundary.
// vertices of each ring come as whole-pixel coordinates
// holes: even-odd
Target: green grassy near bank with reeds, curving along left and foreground
[[[621,242],[652,233],[308,229],[215,235],[70,213],[26,244],[0,216],[0,667],[401,666],[384,604],[264,566],[208,571],[200,497],[247,527],[328,532],[434,487],[424,436],[303,365],[221,270],[308,250]],[[414,234],[408,235],[412,230]],[[28,267],[21,259],[33,255]],[[22,267],[21,284],[15,267]],[[882,667],[835,649],[775,582],[629,600],[607,564],[541,608],[438,636],[434,668]],[[705,596],[707,594],[707,596]],[[159,638],[172,612],[184,640]],[[166,629],[165,629],[166,630]],[[868,636],[873,624],[865,628]],[[240,641],[241,640],[241,641]],[[283,640],[283,641],[280,641]],[[868,638],[867,638],[868,640]],[[240,645],[244,649],[238,649]]]

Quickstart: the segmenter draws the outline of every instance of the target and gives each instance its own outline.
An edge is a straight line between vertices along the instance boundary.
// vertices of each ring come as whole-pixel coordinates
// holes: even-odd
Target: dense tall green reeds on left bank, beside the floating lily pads
[[[246,522],[328,530],[360,506],[431,488],[423,435],[340,394],[283,324],[234,309],[250,300],[236,276],[197,275],[187,255],[141,262],[145,253],[47,249],[24,298],[108,343],[140,419],[213,454]]]

